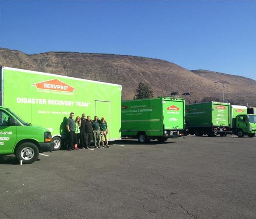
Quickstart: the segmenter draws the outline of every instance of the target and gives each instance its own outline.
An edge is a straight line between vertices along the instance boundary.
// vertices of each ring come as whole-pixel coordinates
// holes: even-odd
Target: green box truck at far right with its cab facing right
[[[231,105],[231,131],[242,138],[244,135],[252,138],[256,133],[256,115],[248,115],[247,107]]]

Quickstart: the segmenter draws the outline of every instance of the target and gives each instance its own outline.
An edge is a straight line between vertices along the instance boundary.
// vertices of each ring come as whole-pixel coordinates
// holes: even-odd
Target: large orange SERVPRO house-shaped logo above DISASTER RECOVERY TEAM
[[[73,92],[76,91],[75,88],[65,84],[64,82],[53,79],[49,81],[43,81],[39,83],[32,84],[35,85],[38,89],[46,89],[46,90],[53,90],[53,91],[65,91],[65,92]]]

